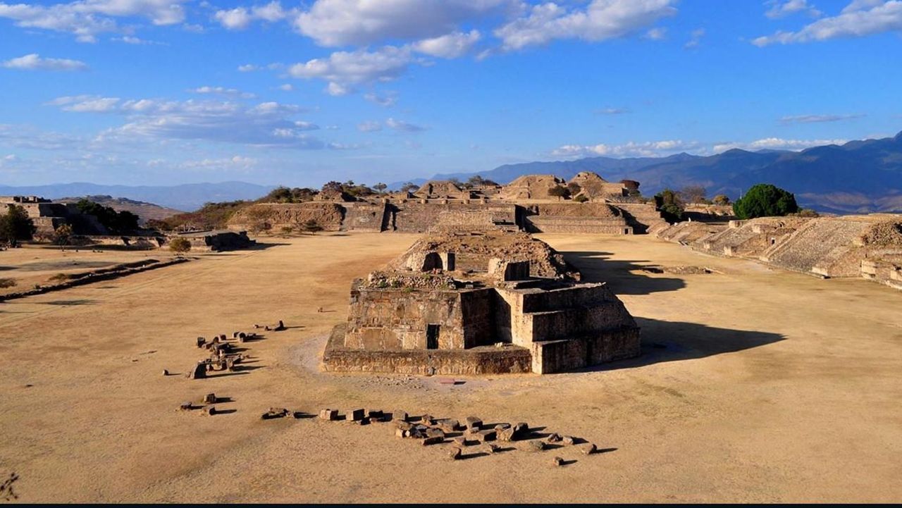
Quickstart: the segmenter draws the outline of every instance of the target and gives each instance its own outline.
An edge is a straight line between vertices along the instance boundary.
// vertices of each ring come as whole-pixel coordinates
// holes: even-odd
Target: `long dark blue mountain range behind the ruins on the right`
[[[554,174],[570,179],[594,171],[606,180],[638,180],[651,195],[661,189],[702,185],[709,197],[732,199],[756,183],[773,183],[796,194],[801,206],[834,213],[902,211],[902,133],[884,139],[830,144],[802,152],[733,149],[706,157],[678,153],[669,157],[505,164],[492,171],[440,174],[429,180],[474,174],[508,183],[525,174]]]

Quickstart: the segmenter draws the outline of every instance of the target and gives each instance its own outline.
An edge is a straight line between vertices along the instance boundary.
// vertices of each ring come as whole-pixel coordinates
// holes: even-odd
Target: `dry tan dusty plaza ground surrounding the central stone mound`
[[[640,359],[453,386],[319,374],[351,279],[415,240],[393,234],[276,240],[0,304],[0,475],[21,476],[22,502],[902,499],[898,291],[648,236],[543,238],[586,279],[610,281],[643,328]],[[649,264],[720,273],[641,270]],[[248,370],[161,375],[202,356],[198,335],[277,319],[292,328],[250,343]],[[234,412],[175,411],[209,392]],[[260,420],[270,406],[528,421],[616,449],[452,462],[446,446],[395,439],[391,424]],[[555,468],[555,455],[575,462]]]

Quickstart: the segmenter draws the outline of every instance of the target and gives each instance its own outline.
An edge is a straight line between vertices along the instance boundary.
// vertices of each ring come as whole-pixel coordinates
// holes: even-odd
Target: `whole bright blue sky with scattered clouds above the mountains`
[[[900,90],[902,0],[0,1],[0,184],[801,150]]]

